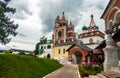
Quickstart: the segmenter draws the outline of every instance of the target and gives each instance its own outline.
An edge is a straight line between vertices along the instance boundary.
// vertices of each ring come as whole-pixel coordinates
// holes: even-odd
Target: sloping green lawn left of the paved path
[[[1,54],[0,78],[42,78],[61,66],[52,59]]]

